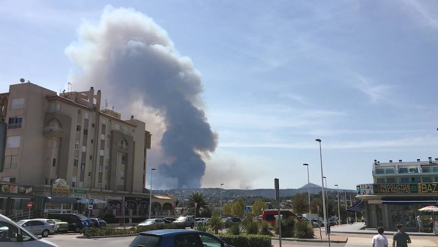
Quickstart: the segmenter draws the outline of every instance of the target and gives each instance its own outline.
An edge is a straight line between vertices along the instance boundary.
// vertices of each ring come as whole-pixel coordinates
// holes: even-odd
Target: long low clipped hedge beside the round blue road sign
[[[111,235],[124,235],[124,234],[137,234],[142,231],[150,230],[160,230],[160,229],[184,229],[184,224],[172,223],[172,224],[156,224],[144,227],[132,227],[132,228],[87,228],[84,231],[84,236],[94,237],[94,236],[111,236]]]

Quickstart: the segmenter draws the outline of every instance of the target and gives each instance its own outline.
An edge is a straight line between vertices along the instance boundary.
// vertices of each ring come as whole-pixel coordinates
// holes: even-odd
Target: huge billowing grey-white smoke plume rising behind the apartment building
[[[173,183],[162,187],[199,188],[203,157],[215,151],[218,136],[201,109],[201,75],[165,30],[138,11],[107,6],[98,23],[80,25],[65,52],[75,88],[101,88],[118,107],[132,109],[135,101],[136,109],[152,108],[163,119],[163,162],[148,164],[158,165],[161,183]]]

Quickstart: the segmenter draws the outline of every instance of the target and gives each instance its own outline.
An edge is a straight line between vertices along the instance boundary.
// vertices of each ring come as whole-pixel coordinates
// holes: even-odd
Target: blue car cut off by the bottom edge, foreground
[[[203,231],[163,229],[140,232],[129,247],[234,247]]]

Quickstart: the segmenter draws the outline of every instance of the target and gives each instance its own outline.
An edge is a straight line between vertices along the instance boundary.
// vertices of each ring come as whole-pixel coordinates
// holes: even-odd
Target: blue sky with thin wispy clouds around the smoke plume
[[[107,5],[152,18],[200,72],[219,136],[202,187],[299,188],[303,163],[321,185],[316,138],[330,188],[371,183],[375,159],[438,157],[438,1],[6,0],[0,92],[67,89],[65,49]]]

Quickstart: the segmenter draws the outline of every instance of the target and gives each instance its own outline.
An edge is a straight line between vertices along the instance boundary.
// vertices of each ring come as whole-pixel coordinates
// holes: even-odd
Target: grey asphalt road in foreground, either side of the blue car
[[[128,247],[134,237],[100,238],[100,239],[77,239],[78,234],[55,234],[45,238],[61,247]],[[277,240],[273,240],[274,247],[278,247]],[[282,241],[282,247],[299,246],[329,246],[328,243]],[[331,247],[345,247],[345,244],[331,244]]]

